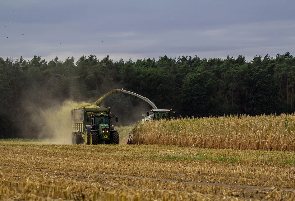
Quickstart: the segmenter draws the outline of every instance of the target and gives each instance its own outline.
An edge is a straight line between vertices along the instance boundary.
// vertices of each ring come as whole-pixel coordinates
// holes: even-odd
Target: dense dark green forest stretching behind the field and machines
[[[135,61],[109,56],[82,56],[76,62],[58,57],[47,62],[0,57],[0,138],[37,137],[46,119],[41,110],[65,100],[95,102],[115,88],[136,92],[177,116],[281,114],[295,110],[295,58],[255,56],[210,58],[182,56]],[[122,125],[135,123],[151,109],[130,95],[112,94],[102,106],[111,107]],[[70,115],[70,114],[69,114]],[[120,117],[121,115],[121,117]],[[138,116],[139,115],[139,116]]]

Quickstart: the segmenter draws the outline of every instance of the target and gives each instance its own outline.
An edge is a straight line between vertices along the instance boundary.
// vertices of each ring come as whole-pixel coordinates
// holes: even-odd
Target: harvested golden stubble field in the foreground
[[[294,200],[295,154],[0,141],[0,199]]]

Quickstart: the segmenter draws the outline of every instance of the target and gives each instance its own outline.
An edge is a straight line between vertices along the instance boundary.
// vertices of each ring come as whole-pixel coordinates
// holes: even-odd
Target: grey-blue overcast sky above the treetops
[[[0,0],[0,57],[295,55],[294,7],[277,0]]]

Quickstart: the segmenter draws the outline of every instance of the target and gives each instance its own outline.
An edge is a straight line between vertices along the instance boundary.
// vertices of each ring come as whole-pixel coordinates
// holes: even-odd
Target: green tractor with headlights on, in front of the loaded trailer
[[[86,118],[86,122],[90,120],[90,125],[85,126],[86,144],[119,144],[119,133],[111,123],[111,118],[118,121],[118,117],[111,114],[92,114]]]

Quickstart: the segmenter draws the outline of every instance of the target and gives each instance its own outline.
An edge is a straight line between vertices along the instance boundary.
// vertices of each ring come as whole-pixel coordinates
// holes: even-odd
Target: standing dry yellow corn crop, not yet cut
[[[295,151],[295,115],[181,118],[136,124],[137,144]]]

